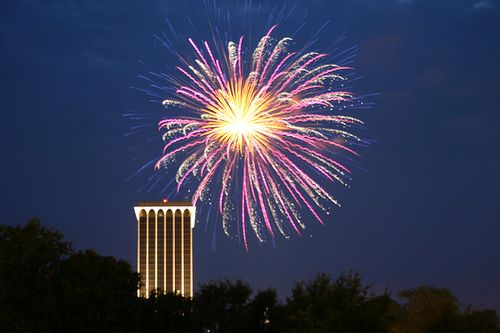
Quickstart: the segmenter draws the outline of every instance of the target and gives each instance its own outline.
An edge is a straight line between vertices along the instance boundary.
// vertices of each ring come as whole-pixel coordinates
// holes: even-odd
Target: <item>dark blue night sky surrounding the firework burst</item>
[[[362,151],[365,170],[354,171],[351,189],[337,193],[342,208],[326,226],[309,223],[302,238],[278,239],[276,247],[252,242],[246,253],[219,228],[213,251],[213,228],[195,228],[195,283],[242,278],[285,297],[298,280],[353,269],[375,292],[430,284],[500,311],[500,2],[301,5],[308,21],[332,21],[332,40],[346,31],[342,46],[360,47],[353,65],[363,79],[354,91],[380,95],[356,116],[377,142]],[[132,207],[164,194],[138,192],[147,170],[127,181],[139,165],[123,114],[163,109],[129,88],[142,70],[137,60],[157,48],[153,35],[167,29],[164,18],[200,7],[186,0],[0,4],[1,223],[40,217],[76,249],[135,269]],[[280,27],[287,28],[294,29]],[[158,138],[145,149],[161,146]]]

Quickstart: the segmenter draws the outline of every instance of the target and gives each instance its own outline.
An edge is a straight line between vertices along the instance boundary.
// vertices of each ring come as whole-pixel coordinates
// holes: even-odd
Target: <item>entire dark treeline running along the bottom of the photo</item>
[[[462,308],[450,291],[421,286],[373,295],[359,274],[319,274],[281,302],[242,281],[201,284],[192,299],[138,298],[127,262],[74,251],[38,220],[0,226],[0,332],[495,333],[494,310]]]

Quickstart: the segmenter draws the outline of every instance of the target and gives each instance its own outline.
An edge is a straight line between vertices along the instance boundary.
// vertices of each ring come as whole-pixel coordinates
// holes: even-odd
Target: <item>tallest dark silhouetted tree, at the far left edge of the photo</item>
[[[50,332],[53,281],[71,246],[38,219],[0,226],[0,331]]]

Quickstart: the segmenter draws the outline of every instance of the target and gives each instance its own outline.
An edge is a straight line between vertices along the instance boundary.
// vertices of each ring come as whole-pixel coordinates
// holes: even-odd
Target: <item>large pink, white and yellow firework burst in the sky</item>
[[[324,223],[322,212],[338,205],[326,188],[350,180],[340,157],[357,157],[363,142],[350,132],[362,122],[336,114],[355,101],[339,89],[350,68],[328,54],[290,52],[292,39],[275,40],[274,30],[253,52],[244,37],[224,47],[189,38],[194,59],[177,67],[176,91],[163,101],[182,116],[159,123],[156,168],[175,167],[177,191],[213,206],[226,234],[236,224],[247,249],[251,231],[260,241],[300,235],[300,212]]]

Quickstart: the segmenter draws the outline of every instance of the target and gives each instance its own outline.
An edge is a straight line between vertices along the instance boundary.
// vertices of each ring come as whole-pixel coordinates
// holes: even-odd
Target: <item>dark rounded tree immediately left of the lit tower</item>
[[[72,254],[54,281],[61,332],[127,332],[135,325],[139,279],[130,264],[94,251]]]

